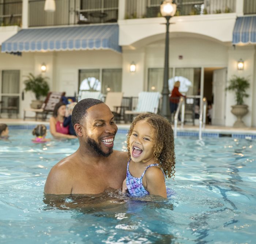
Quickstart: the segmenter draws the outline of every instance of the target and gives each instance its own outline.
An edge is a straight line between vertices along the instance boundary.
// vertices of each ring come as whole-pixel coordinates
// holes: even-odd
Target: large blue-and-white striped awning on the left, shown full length
[[[117,24],[23,29],[2,43],[1,52],[111,49],[121,53],[118,32]]]

